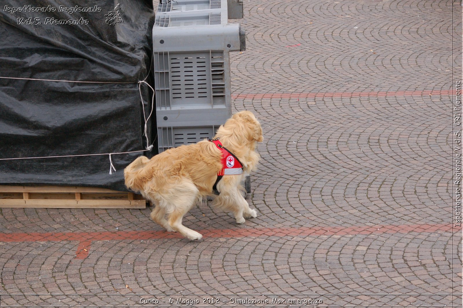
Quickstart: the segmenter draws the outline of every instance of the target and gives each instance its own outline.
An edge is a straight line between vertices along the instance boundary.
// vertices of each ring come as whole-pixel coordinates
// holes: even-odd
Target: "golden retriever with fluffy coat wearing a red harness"
[[[215,139],[234,154],[243,173],[218,177],[227,163],[225,154],[211,140],[181,145],[151,159],[141,156],[125,168],[125,186],[155,205],[150,217],[167,231],[201,239],[200,233],[183,226],[181,220],[197,201],[207,196],[213,197],[212,206],[232,212],[238,224],[244,223],[244,218],[257,216],[243,197],[241,181],[257,169],[257,142],[263,141],[259,122],[249,111],[235,113],[219,127]],[[215,194],[213,188],[217,190]]]

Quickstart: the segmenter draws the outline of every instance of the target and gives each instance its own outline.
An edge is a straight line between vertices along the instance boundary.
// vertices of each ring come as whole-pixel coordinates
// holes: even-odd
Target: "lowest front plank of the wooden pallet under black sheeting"
[[[0,207],[145,208],[144,200],[20,200],[0,199]]]

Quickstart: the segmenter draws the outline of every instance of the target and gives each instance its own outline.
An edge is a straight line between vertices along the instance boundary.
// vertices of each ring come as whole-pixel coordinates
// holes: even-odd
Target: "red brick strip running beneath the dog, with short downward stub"
[[[457,228],[453,231],[459,231]],[[209,238],[238,238],[259,236],[308,236],[308,235],[356,235],[383,234],[409,232],[453,232],[452,224],[423,224],[423,225],[378,225],[378,226],[335,226],[335,227],[299,227],[299,228],[240,228],[203,230],[204,237]],[[41,242],[41,241],[79,241],[76,251],[77,259],[88,256],[90,245],[98,240],[146,240],[183,238],[179,233],[166,231],[117,231],[117,232],[69,232],[69,233],[0,233],[1,242]]]

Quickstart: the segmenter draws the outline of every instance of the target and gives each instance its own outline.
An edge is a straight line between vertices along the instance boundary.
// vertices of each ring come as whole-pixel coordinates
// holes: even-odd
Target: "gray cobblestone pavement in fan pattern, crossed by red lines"
[[[244,0],[232,97],[263,125],[257,218],[201,204],[188,241],[148,208],[4,208],[1,305],[461,307],[453,2]]]

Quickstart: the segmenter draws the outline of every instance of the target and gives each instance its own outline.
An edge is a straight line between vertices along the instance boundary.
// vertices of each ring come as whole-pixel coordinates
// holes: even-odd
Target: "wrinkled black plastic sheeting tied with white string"
[[[120,3],[123,23],[106,24]],[[5,6],[56,7],[56,12],[5,12]],[[58,12],[59,6],[101,12]],[[88,25],[18,25],[17,18],[84,19]],[[138,81],[151,64],[152,2],[4,0],[0,7],[0,158],[140,151],[146,147]],[[150,73],[150,75],[152,72]],[[152,84],[151,76],[146,80]],[[146,116],[151,90],[142,85]],[[151,119],[155,119],[153,114]],[[150,136],[151,123],[148,123]],[[152,143],[152,140],[149,140]],[[94,186],[126,190],[123,169],[140,155],[0,160],[1,185]]]

